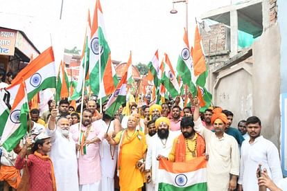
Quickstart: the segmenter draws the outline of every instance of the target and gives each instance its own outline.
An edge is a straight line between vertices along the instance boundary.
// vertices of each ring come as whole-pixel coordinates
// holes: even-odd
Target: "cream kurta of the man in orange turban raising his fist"
[[[233,136],[216,134],[202,125],[200,118],[195,121],[195,131],[205,138],[206,152],[209,154],[207,163],[208,190],[228,190],[230,174],[239,175],[239,149]]]

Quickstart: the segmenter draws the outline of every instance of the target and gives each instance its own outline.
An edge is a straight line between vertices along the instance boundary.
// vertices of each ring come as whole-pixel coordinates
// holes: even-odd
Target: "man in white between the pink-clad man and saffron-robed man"
[[[96,127],[101,128],[110,136],[114,137],[121,131],[121,122],[112,120],[103,111],[103,119],[93,122]],[[103,139],[100,143],[101,156],[101,190],[114,191],[114,172],[116,170],[116,157],[118,156],[118,145],[110,145]]]

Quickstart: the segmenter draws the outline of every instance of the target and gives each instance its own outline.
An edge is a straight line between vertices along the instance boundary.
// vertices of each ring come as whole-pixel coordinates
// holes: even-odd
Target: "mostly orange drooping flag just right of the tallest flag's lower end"
[[[107,66],[105,67],[105,72],[103,74],[103,80],[101,82],[98,98],[110,96],[116,89],[118,83],[119,80],[116,76],[116,70],[114,69],[114,64],[112,64],[111,55],[109,55],[109,59],[107,60]]]

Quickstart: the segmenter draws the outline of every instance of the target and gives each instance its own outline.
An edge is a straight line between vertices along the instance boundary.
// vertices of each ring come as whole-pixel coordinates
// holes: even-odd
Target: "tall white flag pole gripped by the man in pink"
[[[86,43],[87,43],[87,37],[86,37]],[[87,46],[87,44],[86,44]],[[85,51],[86,51],[86,46],[85,46]],[[85,81],[86,81],[86,67],[87,67],[87,54],[85,54],[84,56],[84,70],[82,71],[82,76],[84,78],[82,78],[82,97],[81,97],[81,104],[80,104],[80,122],[79,122],[79,127],[78,127],[78,132],[80,135],[80,131],[81,131],[81,127],[82,127],[82,109],[84,108],[84,96],[85,96]],[[78,145],[79,145],[79,149],[77,151],[77,158],[80,157],[80,137],[78,138]]]

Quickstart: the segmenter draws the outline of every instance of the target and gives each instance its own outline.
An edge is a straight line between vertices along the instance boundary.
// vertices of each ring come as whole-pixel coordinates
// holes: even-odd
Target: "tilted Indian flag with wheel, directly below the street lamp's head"
[[[164,87],[168,93],[171,94],[171,96],[178,96],[180,93],[180,86],[178,85],[171,61],[169,60],[166,53],[164,53],[164,73],[162,74],[162,82],[164,83]]]

